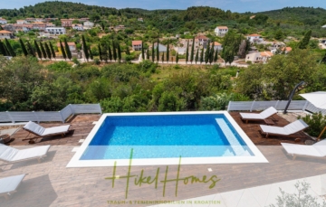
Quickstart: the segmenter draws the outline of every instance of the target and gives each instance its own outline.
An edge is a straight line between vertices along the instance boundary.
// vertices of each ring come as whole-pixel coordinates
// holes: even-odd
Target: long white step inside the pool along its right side
[[[230,146],[235,152],[235,155],[250,155],[248,151],[244,149],[243,146],[239,143],[237,138],[235,137],[232,130],[227,126],[225,119],[223,118],[216,118],[217,125],[222,129],[223,133],[227,141],[230,143]]]

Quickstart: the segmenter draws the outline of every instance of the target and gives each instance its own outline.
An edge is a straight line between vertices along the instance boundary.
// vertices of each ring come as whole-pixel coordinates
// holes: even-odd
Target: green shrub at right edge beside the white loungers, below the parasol
[[[298,117],[300,119],[302,117]],[[315,113],[312,115],[307,115],[306,117],[302,118],[302,120],[309,125],[307,129],[307,133],[310,136],[319,136],[321,134],[321,131],[324,127],[326,127],[326,116],[323,116],[321,112]],[[324,133],[321,138],[325,138],[326,135]]]

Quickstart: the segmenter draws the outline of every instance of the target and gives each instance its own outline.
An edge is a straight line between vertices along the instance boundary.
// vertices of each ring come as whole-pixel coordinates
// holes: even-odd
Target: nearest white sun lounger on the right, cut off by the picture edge
[[[315,156],[324,157],[326,156],[326,139],[321,140],[313,144],[312,146],[302,146],[290,143],[281,143],[285,151],[293,156],[293,160],[297,155],[302,156]]]

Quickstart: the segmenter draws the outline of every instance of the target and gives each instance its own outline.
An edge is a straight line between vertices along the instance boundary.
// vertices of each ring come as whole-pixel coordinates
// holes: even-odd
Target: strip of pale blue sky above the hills
[[[142,8],[142,9],[187,9],[190,6],[207,5],[231,10],[231,12],[264,12],[281,9],[286,6],[313,6],[326,9],[325,0],[62,0],[85,5],[100,5],[114,8]],[[40,0],[0,0],[0,9],[21,8],[25,5],[35,5]]]

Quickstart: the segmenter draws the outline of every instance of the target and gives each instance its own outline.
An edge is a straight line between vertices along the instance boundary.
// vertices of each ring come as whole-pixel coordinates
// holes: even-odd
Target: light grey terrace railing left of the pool
[[[21,121],[62,121],[75,114],[101,114],[100,104],[69,104],[60,111],[5,111],[0,112],[1,122],[21,122]]]

